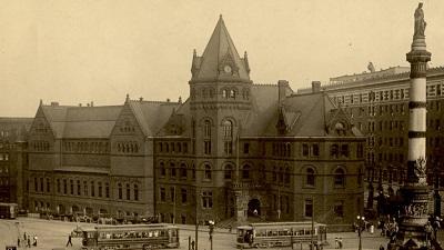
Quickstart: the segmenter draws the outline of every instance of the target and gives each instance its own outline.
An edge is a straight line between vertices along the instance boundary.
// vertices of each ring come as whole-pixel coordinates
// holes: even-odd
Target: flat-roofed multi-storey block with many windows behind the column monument
[[[367,138],[366,190],[373,196],[382,191],[386,197],[393,197],[406,178],[408,73],[410,68],[394,67],[332,78],[329,84],[321,87],[321,91],[341,106]],[[443,84],[444,68],[427,69],[427,182],[440,190],[444,187]],[[297,92],[312,90],[307,88]],[[373,196],[366,199],[369,208],[376,206]]]

